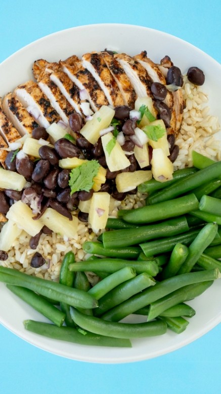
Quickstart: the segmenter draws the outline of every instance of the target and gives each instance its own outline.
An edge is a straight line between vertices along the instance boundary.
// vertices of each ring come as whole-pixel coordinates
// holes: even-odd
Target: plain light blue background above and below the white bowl
[[[129,23],[176,35],[221,62],[220,0],[2,0],[0,62],[46,34],[92,23]],[[1,302],[1,300],[0,300]],[[0,390],[35,393],[219,393],[221,325],[188,346],[139,363],[101,365],[63,359],[0,326]]]

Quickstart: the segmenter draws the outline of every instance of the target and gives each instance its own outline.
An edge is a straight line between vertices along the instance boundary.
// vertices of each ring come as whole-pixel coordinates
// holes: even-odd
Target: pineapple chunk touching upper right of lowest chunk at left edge
[[[31,208],[22,201],[13,204],[6,215],[7,219],[13,220],[19,228],[34,237],[43,227],[43,223],[39,219],[33,220],[33,216]]]

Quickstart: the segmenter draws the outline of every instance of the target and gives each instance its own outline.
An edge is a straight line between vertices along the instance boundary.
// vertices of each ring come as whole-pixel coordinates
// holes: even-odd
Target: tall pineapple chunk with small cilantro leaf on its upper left
[[[124,168],[130,166],[130,161],[127,159],[123,149],[117,141],[111,152],[108,152],[107,144],[113,138],[114,136],[112,133],[107,133],[101,137],[107,166],[111,172],[123,170]]]

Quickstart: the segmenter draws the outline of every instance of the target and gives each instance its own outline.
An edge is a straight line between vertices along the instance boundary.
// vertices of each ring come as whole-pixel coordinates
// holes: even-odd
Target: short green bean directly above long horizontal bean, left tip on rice
[[[112,232],[112,231],[111,231]],[[84,242],[83,250],[86,253],[94,253],[106,257],[117,257],[122,259],[136,259],[141,248],[130,247],[130,248],[104,248],[104,245],[100,242]]]

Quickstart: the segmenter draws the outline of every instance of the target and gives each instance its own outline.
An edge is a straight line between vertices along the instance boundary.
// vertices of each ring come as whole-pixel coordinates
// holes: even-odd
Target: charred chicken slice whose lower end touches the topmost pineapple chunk
[[[66,72],[80,90],[86,92],[86,99],[90,102],[93,111],[97,111],[102,105],[108,105],[107,98],[89,70],[82,63],[75,60],[75,56],[60,62],[62,70]]]

